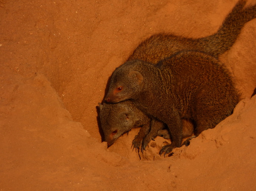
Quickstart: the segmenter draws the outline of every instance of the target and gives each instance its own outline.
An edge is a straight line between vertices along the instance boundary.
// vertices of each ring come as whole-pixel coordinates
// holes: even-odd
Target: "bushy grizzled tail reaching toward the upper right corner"
[[[229,50],[246,22],[256,18],[256,5],[244,8],[245,4],[246,0],[239,0],[219,30],[213,35],[198,39],[197,43],[216,58]]]

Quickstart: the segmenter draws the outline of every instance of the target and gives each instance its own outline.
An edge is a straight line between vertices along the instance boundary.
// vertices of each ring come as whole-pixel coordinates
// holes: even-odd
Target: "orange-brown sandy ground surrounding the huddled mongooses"
[[[134,129],[107,148],[97,117],[139,42],[213,34],[236,1],[0,0],[0,190],[256,190],[256,19],[221,57],[243,99],[188,147],[136,153]]]

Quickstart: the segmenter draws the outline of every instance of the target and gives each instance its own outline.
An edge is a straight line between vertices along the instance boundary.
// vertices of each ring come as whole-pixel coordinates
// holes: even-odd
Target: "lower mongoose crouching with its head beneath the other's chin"
[[[132,128],[140,128],[139,134],[135,136],[132,146],[139,148],[141,145],[142,152],[145,147],[156,136],[163,136],[170,139],[169,132],[165,129],[165,125],[156,121],[150,131],[150,118],[140,111],[132,101],[122,101],[116,104],[99,103],[100,123],[104,133],[104,141],[107,146],[112,145],[121,135],[129,132]],[[186,124],[183,119],[183,138],[187,138],[193,133],[193,126]]]

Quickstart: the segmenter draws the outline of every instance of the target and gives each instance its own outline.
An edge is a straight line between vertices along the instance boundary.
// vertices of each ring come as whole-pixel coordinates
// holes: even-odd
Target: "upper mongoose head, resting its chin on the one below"
[[[109,103],[118,103],[128,99],[136,99],[142,90],[144,77],[133,66],[133,62],[126,62],[112,74],[109,91],[105,100]]]

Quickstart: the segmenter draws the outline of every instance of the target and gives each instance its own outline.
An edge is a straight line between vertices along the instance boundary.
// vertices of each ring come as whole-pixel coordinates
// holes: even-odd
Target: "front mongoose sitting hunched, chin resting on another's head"
[[[182,142],[182,118],[195,122],[195,135],[214,128],[232,114],[239,101],[228,70],[203,52],[181,51],[156,65],[131,60],[114,70],[109,103],[131,100],[150,118],[169,128],[172,143],[160,154],[170,153]]]

